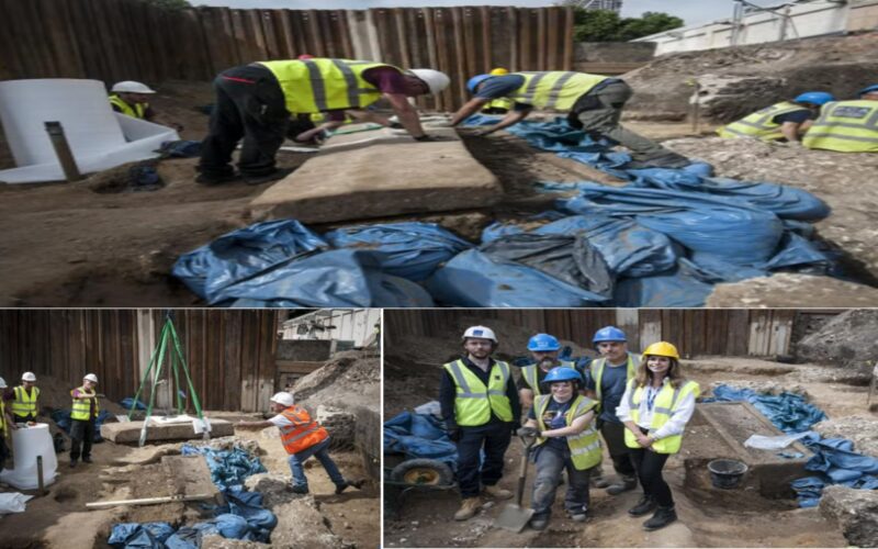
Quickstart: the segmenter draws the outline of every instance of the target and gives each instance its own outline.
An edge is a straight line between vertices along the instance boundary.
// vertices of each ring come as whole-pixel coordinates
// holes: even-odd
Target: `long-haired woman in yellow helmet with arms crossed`
[[[700,388],[680,371],[679,352],[667,341],[650,345],[643,351],[638,374],[628,383],[616,408],[624,423],[624,444],[643,486],[643,497],[628,509],[631,516],[655,511],[643,523],[645,530],[657,530],[677,519],[671,486],[662,469],[672,453],[679,451],[683,432],[695,412]]]

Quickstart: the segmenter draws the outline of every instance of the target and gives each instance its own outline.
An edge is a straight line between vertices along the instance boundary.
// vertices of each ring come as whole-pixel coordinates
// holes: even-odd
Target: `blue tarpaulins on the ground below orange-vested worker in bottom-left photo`
[[[175,530],[168,523],[124,523],[113,526],[109,544],[116,548],[198,549],[204,536],[218,534],[228,539],[269,542],[278,518],[262,506],[262,494],[248,492],[244,480],[266,472],[259,458],[241,448],[216,450],[183,445],[183,456],[202,455],[211,470],[211,480],[225,496],[226,504],[213,507],[210,520]]]

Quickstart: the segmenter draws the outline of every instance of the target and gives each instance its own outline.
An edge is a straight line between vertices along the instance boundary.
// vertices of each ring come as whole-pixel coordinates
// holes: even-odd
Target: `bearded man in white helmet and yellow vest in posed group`
[[[479,512],[481,494],[498,500],[513,496],[497,483],[511,435],[520,425],[521,407],[509,365],[492,358],[497,345],[493,329],[471,326],[463,333],[463,356],[443,367],[439,404],[448,435],[458,445],[458,486],[463,498],[455,520]]]

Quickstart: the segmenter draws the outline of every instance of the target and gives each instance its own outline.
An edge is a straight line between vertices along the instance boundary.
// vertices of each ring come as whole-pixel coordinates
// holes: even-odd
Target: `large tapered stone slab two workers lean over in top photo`
[[[430,131],[449,137],[428,143],[387,132],[363,132],[375,135],[369,143],[354,143],[358,148],[311,158],[254,200],[252,216],[329,223],[472,210],[500,199],[497,178],[470,155],[453,130]],[[330,141],[340,144],[359,135],[338,135]]]

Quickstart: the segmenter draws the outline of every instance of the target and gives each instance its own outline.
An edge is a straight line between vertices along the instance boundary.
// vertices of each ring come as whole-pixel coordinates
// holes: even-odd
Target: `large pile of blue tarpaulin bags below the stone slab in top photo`
[[[703,163],[626,169],[627,153],[563,119],[509,131],[628,184],[534,181],[575,195],[537,216],[538,228],[495,223],[477,244],[430,223],[324,235],[295,220],[257,223],[181,256],[172,272],[212,305],[248,307],[701,306],[720,282],[844,276],[810,225],[830,209],[804,190],[712,177]]]

